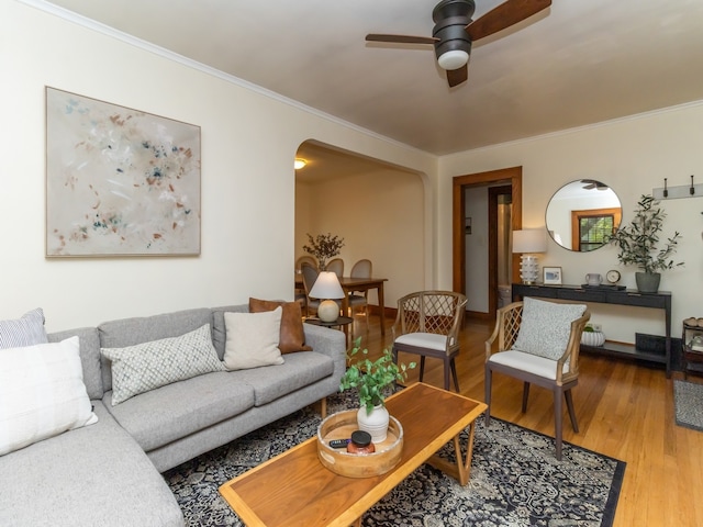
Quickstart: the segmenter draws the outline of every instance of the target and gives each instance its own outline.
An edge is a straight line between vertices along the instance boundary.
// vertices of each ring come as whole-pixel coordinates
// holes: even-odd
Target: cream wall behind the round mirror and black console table
[[[623,204],[623,222],[628,223],[641,194],[652,188],[689,184],[690,176],[703,181],[703,102],[637,117],[602,123],[529,141],[496,145],[446,156],[440,159],[437,187],[438,285],[451,284],[451,178],[504,167],[523,167],[523,227],[543,227],[545,210],[553,193],[576,179],[596,179],[610,184]],[[671,291],[672,332],[689,316],[703,316],[703,199],[681,199],[662,203],[668,213],[665,235],[679,231],[683,239],[677,257],[682,269],[663,273],[660,290]],[[635,288],[633,268],[618,265],[615,247],[580,254],[554,242],[540,257],[540,266],[561,266],[565,283],[582,283],[587,272],[605,274],[620,269],[621,283]],[[634,341],[635,332],[663,334],[663,316],[656,310],[624,310],[593,304],[592,321],[601,323],[606,337]]]

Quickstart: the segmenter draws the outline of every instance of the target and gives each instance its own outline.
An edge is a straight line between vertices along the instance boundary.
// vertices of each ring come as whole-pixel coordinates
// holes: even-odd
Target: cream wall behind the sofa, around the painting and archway
[[[54,330],[292,298],[292,160],[310,138],[436,173],[433,156],[14,0],[0,0],[0,318],[42,306]],[[45,258],[45,86],[201,126],[199,257]]]

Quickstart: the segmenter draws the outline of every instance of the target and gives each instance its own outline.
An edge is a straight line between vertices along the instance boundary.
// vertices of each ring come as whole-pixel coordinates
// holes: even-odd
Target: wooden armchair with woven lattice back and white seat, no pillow
[[[420,382],[425,371],[425,358],[444,361],[444,389],[449,390],[449,372],[459,392],[455,359],[459,355],[459,330],[464,322],[467,299],[454,291],[419,291],[398,301],[393,324],[393,360],[398,352],[420,355]]]

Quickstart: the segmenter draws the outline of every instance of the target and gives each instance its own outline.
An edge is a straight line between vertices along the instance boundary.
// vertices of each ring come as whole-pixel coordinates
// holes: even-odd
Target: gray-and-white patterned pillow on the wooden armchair
[[[558,304],[526,296],[520,333],[512,349],[559,359],[569,344],[571,323],[584,312],[583,304]]]

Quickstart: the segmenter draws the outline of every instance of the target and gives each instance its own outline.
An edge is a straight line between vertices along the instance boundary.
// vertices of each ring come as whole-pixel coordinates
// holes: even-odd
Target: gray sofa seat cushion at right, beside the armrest
[[[233,372],[238,382],[254,389],[255,405],[264,406],[283,395],[330,377],[334,361],[316,351],[288,354],[286,365]],[[338,382],[337,382],[338,384]]]

